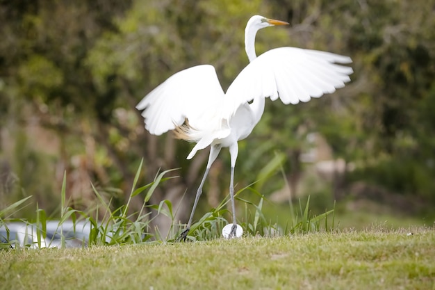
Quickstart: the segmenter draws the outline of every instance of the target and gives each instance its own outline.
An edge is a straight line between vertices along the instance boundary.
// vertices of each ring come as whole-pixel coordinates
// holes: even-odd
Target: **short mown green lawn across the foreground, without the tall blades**
[[[435,289],[435,232],[3,250],[0,261],[1,289]]]

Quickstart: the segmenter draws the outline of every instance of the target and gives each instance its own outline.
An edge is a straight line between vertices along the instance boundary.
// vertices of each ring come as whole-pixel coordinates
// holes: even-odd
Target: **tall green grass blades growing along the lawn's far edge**
[[[245,234],[275,236],[283,234],[306,234],[308,232],[319,231],[321,228],[321,220],[325,220],[325,229],[328,230],[330,228],[327,216],[333,213],[334,209],[326,211],[319,216],[311,216],[309,209],[310,198],[308,198],[304,207],[302,207],[302,202],[299,200],[298,214],[293,208],[294,205],[290,199],[289,220],[284,229],[281,229],[277,223],[272,223],[265,218],[263,205],[264,202],[270,201],[261,193],[261,188],[266,180],[279,170],[283,175],[286,186],[289,188],[282,166],[284,160],[284,154],[276,154],[274,159],[258,174],[256,182],[241,188],[235,193],[234,197],[236,200],[243,202],[245,207],[245,218],[240,221],[240,225],[245,229]],[[159,185],[167,181],[167,179],[174,178],[166,177],[167,174],[177,169],[158,172],[153,182],[138,187],[142,166],[143,159],[140,161],[138,170],[136,171],[126,204],[117,209],[112,209],[113,200],[111,198],[106,200],[106,198],[99,193],[94,184],[91,184],[91,186],[98,200],[95,207],[87,211],[79,211],[68,207],[69,202],[66,194],[67,174],[64,172],[60,191],[60,220],[58,222],[58,229],[60,229],[60,246],[62,248],[66,246],[63,223],[67,220],[72,220],[74,232],[76,231],[76,223],[79,221],[90,225],[87,245],[122,245],[145,243],[153,240],[158,242],[174,241],[174,238],[181,232],[182,225],[175,220],[177,212],[174,213],[172,202],[170,202],[170,200],[162,200],[158,204],[149,204],[149,200],[151,200],[152,195]],[[258,196],[259,201],[252,202],[242,198],[240,193],[245,191],[249,191],[249,193]],[[145,195],[140,210],[131,212],[130,207],[133,198],[141,193],[145,193]],[[0,223],[3,223],[5,217],[18,211],[29,198],[30,197],[19,200],[9,207],[6,207],[6,209],[1,210]],[[229,195],[227,195],[217,207],[206,212],[196,223],[193,223],[190,227],[188,239],[190,241],[204,241],[220,238],[222,228],[228,223],[228,220],[224,218],[224,216],[228,213],[227,204],[229,201],[230,198]],[[250,214],[251,209],[254,209],[254,214]],[[156,213],[154,216],[151,216],[152,211]],[[166,236],[163,236],[158,228],[151,228],[154,219],[160,215],[166,216],[171,220],[170,231]],[[39,208],[38,204],[36,205],[36,224],[38,247],[41,248],[44,246],[42,239],[46,239],[47,237],[47,216],[45,211]],[[332,216],[332,227],[334,227],[334,215]],[[81,230],[83,230],[83,228]]]

